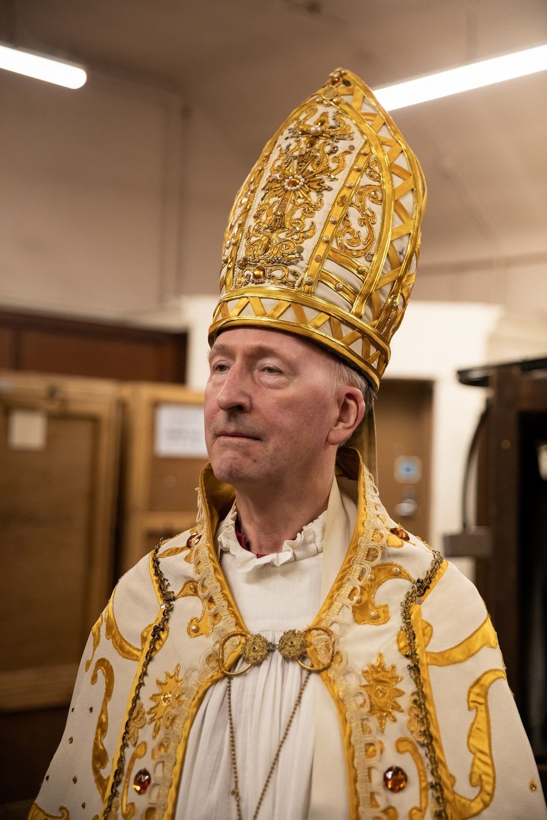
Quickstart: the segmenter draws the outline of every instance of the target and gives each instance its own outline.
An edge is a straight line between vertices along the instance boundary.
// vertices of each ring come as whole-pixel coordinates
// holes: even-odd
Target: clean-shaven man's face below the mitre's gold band
[[[218,336],[209,364],[205,439],[217,478],[238,487],[312,469],[338,416],[334,358],[296,335],[237,328]]]

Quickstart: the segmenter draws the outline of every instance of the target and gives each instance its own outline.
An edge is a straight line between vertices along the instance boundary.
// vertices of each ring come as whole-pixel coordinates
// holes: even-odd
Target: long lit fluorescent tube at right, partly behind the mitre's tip
[[[460,91],[480,89],[483,85],[500,83],[502,80],[513,80],[526,74],[547,69],[547,45],[526,48],[526,51],[505,54],[503,57],[492,57],[490,60],[472,62],[467,66],[440,71],[417,80],[406,80],[403,83],[388,85],[375,91],[378,102],[387,109],[404,108],[416,103],[426,103],[457,94]]]

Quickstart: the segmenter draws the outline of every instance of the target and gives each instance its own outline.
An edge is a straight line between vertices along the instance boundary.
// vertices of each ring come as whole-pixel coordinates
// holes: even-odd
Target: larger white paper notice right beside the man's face
[[[203,408],[158,404],[154,453],[157,456],[206,458]]]

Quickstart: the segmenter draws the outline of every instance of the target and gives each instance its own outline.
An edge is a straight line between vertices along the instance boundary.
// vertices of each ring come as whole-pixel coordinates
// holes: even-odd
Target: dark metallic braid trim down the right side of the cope
[[[403,603],[401,604],[401,615],[403,617],[403,631],[408,643],[408,652],[405,652],[404,655],[410,662],[408,663],[408,672],[410,672],[414,686],[416,686],[416,691],[413,692],[413,704],[417,712],[419,736],[422,738],[422,745],[426,748],[426,758],[429,760],[428,768],[432,778],[429,786],[431,788],[431,794],[439,805],[439,809],[435,811],[435,818],[438,818],[438,820],[449,820],[446,800],[444,799],[444,789],[440,779],[439,763],[431,734],[431,724],[427,713],[426,695],[417,654],[416,632],[414,631],[412,619],[414,604],[416,604],[418,598],[422,598],[423,595],[426,594],[426,591],[431,586],[435,575],[443,563],[443,557],[440,553],[434,550],[433,555],[433,563],[431,563],[431,567],[427,570],[426,575],[423,578],[418,578],[404,596]]]

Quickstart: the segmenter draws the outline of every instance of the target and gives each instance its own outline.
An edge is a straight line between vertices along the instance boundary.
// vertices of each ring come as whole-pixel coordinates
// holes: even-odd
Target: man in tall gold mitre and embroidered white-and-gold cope
[[[547,818],[484,604],[369,471],[424,203],[349,71],[267,144],[226,231],[197,525],[93,627],[32,820]]]

